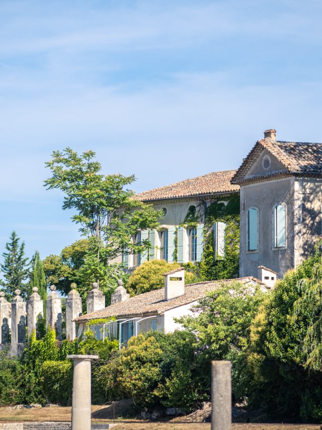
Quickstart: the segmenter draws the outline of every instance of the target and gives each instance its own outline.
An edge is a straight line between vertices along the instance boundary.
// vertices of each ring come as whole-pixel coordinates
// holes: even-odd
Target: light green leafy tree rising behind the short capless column
[[[251,323],[263,303],[265,294],[241,282],[222,283],[193,307],[195,316],[179,319],[198,338],[200,359],[210,369],[212,360],[232,362],[233,394],[237,400],[248,396],[250,374],[247,355]],[[210,389],[210,387],[209,387]]]

